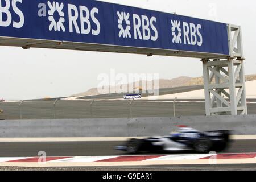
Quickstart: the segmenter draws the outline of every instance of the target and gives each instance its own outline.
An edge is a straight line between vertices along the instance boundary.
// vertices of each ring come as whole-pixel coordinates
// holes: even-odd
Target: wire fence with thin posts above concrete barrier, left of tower
[[[133,118],[204,115],[204,102],[20,101],[1,102],[0,119]]]

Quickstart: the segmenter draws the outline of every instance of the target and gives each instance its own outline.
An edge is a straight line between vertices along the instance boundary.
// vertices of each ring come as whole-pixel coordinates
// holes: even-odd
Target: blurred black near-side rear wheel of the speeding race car
[[[208,153],[211,147],[212,142],[208,138],[200,138],[193,143],[194,150],[199,153]]]

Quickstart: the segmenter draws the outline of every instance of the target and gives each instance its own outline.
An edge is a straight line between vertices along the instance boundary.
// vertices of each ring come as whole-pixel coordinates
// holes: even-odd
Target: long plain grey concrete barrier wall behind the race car
[[[49,119],[0,121],[0,137],[135,137],[168,135],[175,125],[256,134],[256,115],[177,118]]]

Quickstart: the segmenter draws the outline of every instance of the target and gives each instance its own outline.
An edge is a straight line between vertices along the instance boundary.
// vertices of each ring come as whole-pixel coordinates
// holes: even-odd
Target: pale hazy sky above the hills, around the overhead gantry
[[[86,1],[86,0],[85,0]],[[242,26],[246,74],[256,73],[256,3],[241,0],[105,0]],[[159,73],[160,78],[203,75],[199,59],[55,49],[0,47],[0,98],[62,97],[97,87],[100,73]],[[136,65],[129,67],[126,65]]]

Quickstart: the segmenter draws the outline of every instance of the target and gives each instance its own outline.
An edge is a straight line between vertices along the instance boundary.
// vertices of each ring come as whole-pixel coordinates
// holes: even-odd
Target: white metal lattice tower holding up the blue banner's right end
[[[247,114],[242,31],[228,25],[229,57],[202,59],[206,115]]]

